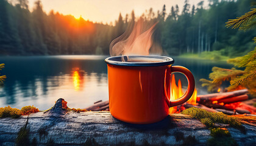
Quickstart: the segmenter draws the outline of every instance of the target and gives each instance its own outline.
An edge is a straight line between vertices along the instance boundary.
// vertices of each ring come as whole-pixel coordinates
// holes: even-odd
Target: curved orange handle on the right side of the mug
[[[170,98],[168,98],[168,94],[166,94],[166,99],[167,99],[169,108],[171,108],[172,106],[181,105],[181,104],[187,102],[190,99],[190,97],[193,95],[193,92],[194,92],[194,76],[190,72],[190,70],[188,70],[187,68],[185,68],[183,66],[171,66],[171,73],[173,73],[173,72],[180,72],[187,77],[188,88],[187,88],[187,91],[185,92],[185,94],[176,100],[172,100],[172,101],[169,100]]]

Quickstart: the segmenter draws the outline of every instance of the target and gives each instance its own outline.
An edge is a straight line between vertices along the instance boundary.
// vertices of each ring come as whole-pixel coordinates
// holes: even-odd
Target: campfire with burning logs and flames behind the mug
[[[197,90],[194,89],[193,96],[191,96],[188,102],[169,108],[169,113],[180,113],[184,109],[195,107],[202,108],[213,113],[222,112],[229,115],[247,114],[248,116],[256,116],[256,108],[243,103],[243,101],[248,100],[247,89],[240,89],[231,92],[219,92],[220,90],[221,89],[219,88],[217,93],[197,96]],[[175,75],[173,74],[171,79],[170,98],[171,100],[175,100],[183,94],[182,83],[179,80],[176,85]],[[102,100],[99,100],[98,102],[95,102],[94,105],[86,109],[91,111],[108,111],[108,103],[108,101],[102,102]]]

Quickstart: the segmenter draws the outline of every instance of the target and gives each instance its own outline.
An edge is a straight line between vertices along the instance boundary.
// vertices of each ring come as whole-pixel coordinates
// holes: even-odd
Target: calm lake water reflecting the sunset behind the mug
[[[108,100],[105,58],[96,55],[0,57],[0,63],[5,63],[1,74],[7,75],[0,88],[0,107],[34,105],[43,110],[63,98],[71,108],[86,108],[98,100]],[[208,78],[213,66],[232,68],[225,62],[173,58],[174,65],[185,66],[193,72],[199,94],[206,93],[199,79]],[[181,78],[185,88],[185,77],[176,74],[176,78]]]

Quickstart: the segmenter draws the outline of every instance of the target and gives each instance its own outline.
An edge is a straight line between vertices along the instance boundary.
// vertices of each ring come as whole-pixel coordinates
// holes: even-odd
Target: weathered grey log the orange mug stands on
[[[29,131],[30,143],[37,145],[182,145],[184,141],[205,145],[211,137],[210,130],[199,120],[183,114],[172,114],[149,125],[135,125],[121,122],[109,112],[65,111],[62,100],[46,112],[0,119],[0,145],[15,145],[22,127]],[[244,127],[246,133],[227,129],[239,145],[254,145],[256,127]]]

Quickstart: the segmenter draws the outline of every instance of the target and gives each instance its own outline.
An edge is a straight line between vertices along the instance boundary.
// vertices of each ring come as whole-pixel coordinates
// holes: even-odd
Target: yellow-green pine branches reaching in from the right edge
[[[232,27],[232,29],[239,28],[240,30],[252,29],[256,26],[256,9],[251,9],[250,12],[236,18],[230,19],[226,24],[226,27]],[[256,37],[254,38],[256,43]],[[230,82],[228,90],[234,90],[238,88],[248,88],[249,92],[256,96],[256,47],[243,57],[236,57],[229,59],[227,63],[234,64],[238,68],[245,68],[244,71],[235,68],[223,69],[213,67],[213,72],[210,73],[209,78],[212,80],[201,79],[204,82],[202,86],[207,86],[208,91],[214,91],[221,86],[221,83],[225,80]]]

